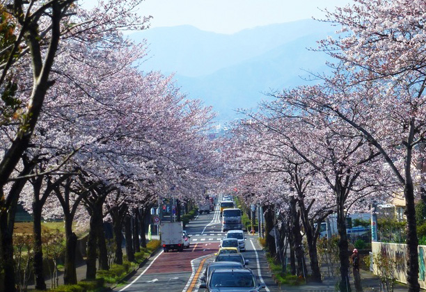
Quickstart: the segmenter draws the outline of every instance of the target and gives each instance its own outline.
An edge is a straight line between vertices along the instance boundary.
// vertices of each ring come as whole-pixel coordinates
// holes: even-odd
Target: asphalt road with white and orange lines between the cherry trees
[[[219,242],[225,236],[225,233],[221,232],[219,204],[215,211],[202,214],[189,222],[186,230],[191,237],[188,249],[184,252],[159,251],[126,285],[113,291],[198,291],[198,277],[205,265],[214,260],[214,252],[218,250]],[[279,291],[271,279],[257,236],[246,234],[246,252],[242,254],[250,261],[248,267],[258,276],[258,280],[267,284],[263,291]],[[203,290],[200,289],[200,292]]]

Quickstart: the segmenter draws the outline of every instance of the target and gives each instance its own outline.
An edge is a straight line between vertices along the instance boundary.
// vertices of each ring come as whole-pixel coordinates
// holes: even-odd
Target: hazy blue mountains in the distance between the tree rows
[[[178,86],[191,98],[214,106],[219,119],[235,118],[235,108],[255,107],[265,92],[292,88],[310,72],[324,72],[327,56],[310,51],[332,35],[329,24],[303,20],[260,26],[233,35],[200,31],[192,26],[148,29],[129,35],[146,39],[149,59],[141,70],[175,73]]]

